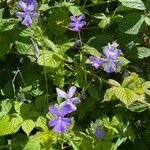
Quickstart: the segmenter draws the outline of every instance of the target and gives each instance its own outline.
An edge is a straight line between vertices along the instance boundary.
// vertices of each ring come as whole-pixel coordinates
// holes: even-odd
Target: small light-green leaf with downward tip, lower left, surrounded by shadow
[[[31,119],[25,120],[22,123],[22,130],[29,136],[30,132],[34,129],[35,127],[35,122]]]

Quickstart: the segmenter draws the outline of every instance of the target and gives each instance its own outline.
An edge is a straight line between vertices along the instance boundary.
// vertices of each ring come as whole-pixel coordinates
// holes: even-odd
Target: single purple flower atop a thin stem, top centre
[[[69,26],[74,29],[74,31],[80,31],[83,26],[86,25],[84,21],[85,15],[81,14],[80,16],[71,16]]]

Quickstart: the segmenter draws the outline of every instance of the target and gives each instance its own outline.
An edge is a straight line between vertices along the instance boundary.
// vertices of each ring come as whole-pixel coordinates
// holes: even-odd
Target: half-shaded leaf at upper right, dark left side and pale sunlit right
[[[119,30],[127,34],[138,34],[143,25],[144,17],[131,13],[126,15],[119,23]]]

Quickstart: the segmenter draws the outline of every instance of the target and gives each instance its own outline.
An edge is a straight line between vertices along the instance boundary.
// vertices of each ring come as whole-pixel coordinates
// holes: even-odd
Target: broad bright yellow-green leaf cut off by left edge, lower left
[[[0,136],[16,133],[22,123],[21,116],[11,117],[4,116],[0,119]]]

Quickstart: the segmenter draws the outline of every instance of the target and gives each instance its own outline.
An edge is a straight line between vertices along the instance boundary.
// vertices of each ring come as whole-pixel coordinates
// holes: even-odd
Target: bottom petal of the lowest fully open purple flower
[[[61,132],[64,132],[66,128],[67,128],[67,125],[63,121],[58,121],[53,129],[57,133],[61,133]]]

